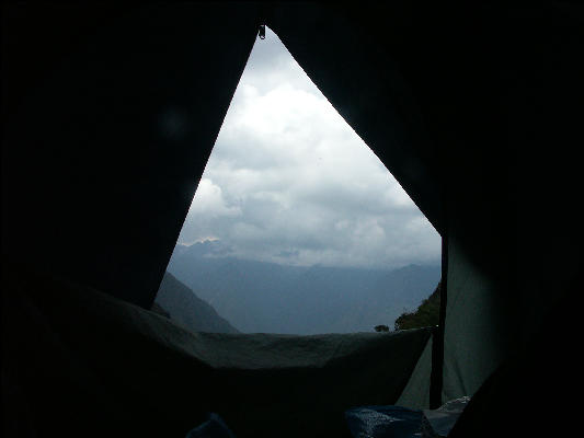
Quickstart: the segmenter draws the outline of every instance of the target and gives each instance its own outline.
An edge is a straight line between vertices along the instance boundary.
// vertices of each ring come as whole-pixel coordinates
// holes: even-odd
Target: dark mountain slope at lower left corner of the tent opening
[[[170,273],[164,274],[154,303],[170,313],[171,320],[193,332],[238,333],[211,306]]]

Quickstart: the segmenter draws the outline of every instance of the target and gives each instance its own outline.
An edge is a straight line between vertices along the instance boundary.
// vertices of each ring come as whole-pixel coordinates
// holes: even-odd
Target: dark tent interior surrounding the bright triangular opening
[[[581,5],[2,8],[4,436],[185,436],[209,412],[350,436],[350,407],[463,395],[453,437],[576,428]],[[148,310],[264,24],[440,233],[437,327],[214,335]]]

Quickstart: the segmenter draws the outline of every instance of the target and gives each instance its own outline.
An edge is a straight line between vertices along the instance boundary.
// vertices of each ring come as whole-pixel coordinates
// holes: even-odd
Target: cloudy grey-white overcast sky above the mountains
[[[439,263],[440,239],[379,159],[266,28],[179,238],[283,264]]]

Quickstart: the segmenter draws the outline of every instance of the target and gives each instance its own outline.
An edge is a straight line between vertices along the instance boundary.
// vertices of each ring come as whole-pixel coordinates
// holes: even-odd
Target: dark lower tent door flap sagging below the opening
[[[79,285],[4,274],[3,378],[43,436],[184,437],[208,412],[238,437],[347,436],[344,411],[396,403],[431,335],[191,333]]]

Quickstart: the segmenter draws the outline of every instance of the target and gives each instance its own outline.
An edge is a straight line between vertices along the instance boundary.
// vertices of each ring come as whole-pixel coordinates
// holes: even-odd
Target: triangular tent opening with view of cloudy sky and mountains
[[[439,264],[438,233],[267,28],[157,303],[195,331],[392,330],[435,290]]]

